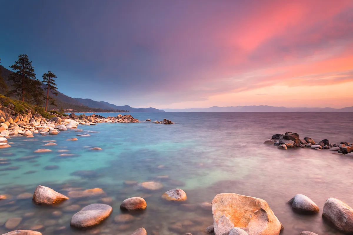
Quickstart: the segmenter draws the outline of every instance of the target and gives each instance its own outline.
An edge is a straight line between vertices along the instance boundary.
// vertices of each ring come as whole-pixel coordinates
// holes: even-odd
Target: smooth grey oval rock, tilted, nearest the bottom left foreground
[[[106,204],[91,204],[85,206],[74,214],[71,218],[70,225],[76,228],[86,228],[97,224],[100,224],[110,214],[112,214],[113,208]]]

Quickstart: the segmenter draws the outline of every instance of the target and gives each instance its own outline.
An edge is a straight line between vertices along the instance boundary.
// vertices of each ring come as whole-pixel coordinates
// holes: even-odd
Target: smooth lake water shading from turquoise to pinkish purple
[[[0,161],[10,162],[0,166],[0,194],[10,198],[0,201],[0,234],[34,229],[34,225],[42,225],[37,228],[43,234],[131,234],[140,227],[152,235],[202,234],[213,224],[213,218],[210,207],[201,203],[210,203],[217,193],[225,192],[266,200],[285,227],[282,234],[303,230],[340,234],[323,221],[322,207],[329,197],[353,206],[353,159],[329,150],[279,150],[263,142],[287,131],[315,141],[327,138],[331,143],[353,142],[353,113],[130,114],[142,122],[79,125],[83,132],[68,130],[55,136],[8,139],[12,147],[0,149]],[[175,124],[145,122],[147,118],[166,118]],[[91,136],[66,141],[82,133]],[[49,140],[57,145],[43,147]],[[103,150],[90,150],[92,147]],[[53,151],[33,153],[39,148]],[[124,185],[125,180],[160,181],[164,188],[144,191],[139,185]],[[36,206],[31,196],[18,199],[23,193],[33,194],[37,185],[63,194],[75,188],[102,188],[106,196],[70,199],[54,207]],[[163,192],[173,188],[182,188],[187,202],[167,203],[161,199]],[[320,213],[295,214],[287,201],[298,193],[310,197]],[[147,209],[134,215],[131,223],[114,222],[114,217],[122,213],[120,203],[132,196],[145,198]],[[107,203],[107,198],[112,201]],[[102,201],[113,207],[113,214],[102,225],[84,231],[70,228],[70,219],[79,208]],[[62,215],[56,212],[54,216],[54,211]],[[3,224],[10,217],[22,217],[22,221],[16,228],[6,229]]]

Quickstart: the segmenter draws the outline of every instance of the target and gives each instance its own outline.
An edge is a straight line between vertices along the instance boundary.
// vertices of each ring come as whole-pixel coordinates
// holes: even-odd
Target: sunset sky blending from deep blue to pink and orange
[[[353,106],[352,0],[2,1],[0,58],[155,108]]]

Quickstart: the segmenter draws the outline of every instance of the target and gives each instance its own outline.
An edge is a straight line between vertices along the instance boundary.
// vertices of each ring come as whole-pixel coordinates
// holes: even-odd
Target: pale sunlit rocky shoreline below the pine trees
[[[61,116],[56,113],[50,113],[55,116],[50,119],[43,118],[39,113],[28,114],[16,113],[11,105],[9,107],[0,107],[0,148],[9,148],[7,138],[23,136],[34,137],[33,134],[40,133],[41,135],[57,135],[60,131],[68,129],[76,129],[78,125],[97,125],[97,123],[138,123],[139,120],[131,115],[121,115],[116,117],[103,117],[92,114],[90,116],[77,116],[71,113],[68,116]],[[150,121],[147,119],[146,121]],[[174,124],[172,121],[163,119],[162,121],[154,121],[158,124]],[[85,134],[88,136],[88,134]],[[79,136],[84,136],[81,134]]]

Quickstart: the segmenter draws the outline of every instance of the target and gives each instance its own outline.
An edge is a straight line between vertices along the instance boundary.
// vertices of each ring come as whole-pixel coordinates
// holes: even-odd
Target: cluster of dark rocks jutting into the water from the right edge
[[[335,154],[353,156],[353,143],[341,142],[340,144],[332,144],[329,140],[324,139],[315,143],[310,137],[300,139],[299,134],[286,132],[286,134],[275,134],[267,139],[264,144],[277,146],[279,149],[288,148],[311,148],[315,150],[331,150],[337,151]]]

